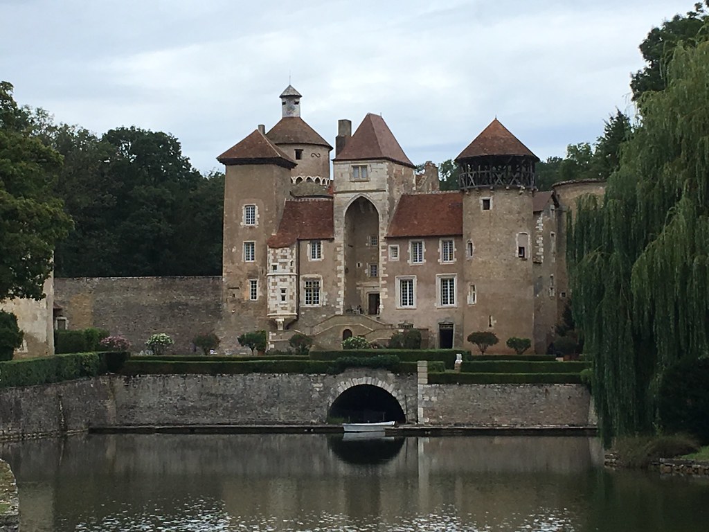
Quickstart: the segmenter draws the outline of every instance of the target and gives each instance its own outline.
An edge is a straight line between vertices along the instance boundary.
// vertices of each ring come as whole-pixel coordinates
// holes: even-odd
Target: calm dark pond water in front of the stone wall
[[[598,467],[588,438],[81,436],[0,445],[22,532],[706,532],[709,480]]]

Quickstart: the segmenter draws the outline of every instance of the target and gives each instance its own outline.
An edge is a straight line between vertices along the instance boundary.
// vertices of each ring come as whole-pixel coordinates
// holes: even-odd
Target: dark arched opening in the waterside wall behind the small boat
[[[328,419],[342,419],[346,423],[406,423],[396,397],[372,384],[358,384],[342,392],[330,406]]]

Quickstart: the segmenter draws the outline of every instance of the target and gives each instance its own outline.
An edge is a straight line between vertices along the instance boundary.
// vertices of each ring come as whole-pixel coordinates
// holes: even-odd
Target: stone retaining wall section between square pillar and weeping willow
[[[587,426],[591,397],[581,384],[420,384],[419,423],[473,426]]]

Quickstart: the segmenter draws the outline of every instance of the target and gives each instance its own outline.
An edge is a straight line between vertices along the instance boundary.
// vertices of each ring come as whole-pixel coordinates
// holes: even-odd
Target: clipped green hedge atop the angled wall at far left
[[[0,388],[34,386],[115,373],[127,358],[128,353],[112,351],[0,362]]]

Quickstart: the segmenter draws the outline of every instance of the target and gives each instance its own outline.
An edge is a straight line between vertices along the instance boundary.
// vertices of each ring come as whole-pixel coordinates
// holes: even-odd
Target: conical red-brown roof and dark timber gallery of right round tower
[[[495,118],[460,155],[461,189],[535,186],[539,157]]]

